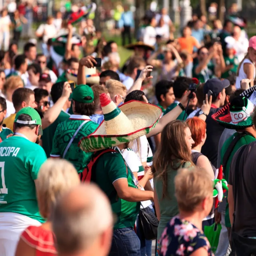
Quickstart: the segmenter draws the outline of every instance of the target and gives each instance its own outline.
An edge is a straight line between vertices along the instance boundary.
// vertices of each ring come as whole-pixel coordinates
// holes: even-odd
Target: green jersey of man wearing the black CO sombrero
[[[223,144],[222,148],[221,148],[221,151],[220,151],[220,164],[222,164],[222,161],[223,161],[223,157],[226,153],[226,151],[228,150],[228,147],[230,146],[232,140],[237,136],[238,132],[234,133],[231,137],[228,138],[228,140],[225,141],[225,143]],[[228,176],[229,176],[229,169],[230,169],[230,164],[231,164],[231,161],[232,161],[232,158],[233,156],[235,155],[236,151],[242,147],[243,145],[247,145],[251,142],[255,141],[255,138],[252,137],[252,135],[245,135],[244,137],[242,137],[240,140],[237,141],[233,151],[231,152],[229,158],[228,158],[228,161],[227,161],[227,164],[226,164],[226,168],[224,171],[224,175],[225,175],[225,180],[228,181]],[[227,191],[228,193],[228,191]],[[226,227],[231,227],[231,224],[230,224],[230,220],[229,220],[229,208],[228,208],[228,203],[227,203],[227,206],[226,206],[226,213],[225,213],[225,226]]]

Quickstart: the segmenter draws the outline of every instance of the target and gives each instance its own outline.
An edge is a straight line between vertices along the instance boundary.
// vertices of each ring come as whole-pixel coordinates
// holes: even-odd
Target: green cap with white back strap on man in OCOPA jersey
[[[19,116],[21,114],[26,114],[26,115],[30,116],[32,120],[31,121],[19,120]],[[40,125],[40,127],[39,127],[39,135],[43,135],[42,120],[41,120],[41,117],[39,116],[38,112],[34,108],[30,108],[30,107],[21,108],[20,111],[18,111],[18,113],[15,116],[14,123]]]

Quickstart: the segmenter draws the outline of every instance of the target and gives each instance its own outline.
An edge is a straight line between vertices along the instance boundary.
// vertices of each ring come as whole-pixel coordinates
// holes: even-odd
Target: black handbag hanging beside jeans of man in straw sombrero
[[[140,209],[139,225],[145,239],[154,240],[157,238],[157,227],[159,221],[149,207]]]

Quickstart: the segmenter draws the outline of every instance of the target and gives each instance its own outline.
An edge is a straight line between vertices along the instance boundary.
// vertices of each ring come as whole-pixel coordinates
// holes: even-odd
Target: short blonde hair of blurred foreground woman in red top
[[[73,164],[64,159],[47,159],[39,170],[36,182],[38,206],[42,217],[48,218],[56,199],[79,184],[80,179]]]

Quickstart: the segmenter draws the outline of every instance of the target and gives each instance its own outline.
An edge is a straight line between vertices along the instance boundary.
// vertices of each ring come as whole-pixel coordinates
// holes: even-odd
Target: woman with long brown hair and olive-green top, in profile
[[[194,140],[188,124],[175,120],[167,124],[161,133],[160,146],[153,158],[154,203],[159,220],[157,241],[168,221],[179,213],[174,197],[174,178],[181,168],[194,166],[191,150]]]

